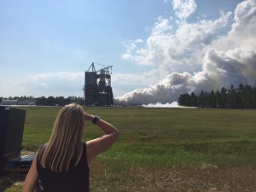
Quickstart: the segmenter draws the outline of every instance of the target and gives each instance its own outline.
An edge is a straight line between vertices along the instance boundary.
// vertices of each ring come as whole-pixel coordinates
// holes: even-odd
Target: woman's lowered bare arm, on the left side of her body
[[[26,179],[22,187],[22,192],[33,192],[38,183],[37,158],[38,154],[35,155],[34,160],[32,161],[32,166],[26,175]]]

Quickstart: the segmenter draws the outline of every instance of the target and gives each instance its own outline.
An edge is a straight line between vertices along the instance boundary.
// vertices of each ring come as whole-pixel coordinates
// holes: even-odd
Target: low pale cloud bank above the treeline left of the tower
[[[16,96],[83,96],[84,73],[41,73],[0,84],[0,89]],[[4,96],[4,95],[3,95]]]

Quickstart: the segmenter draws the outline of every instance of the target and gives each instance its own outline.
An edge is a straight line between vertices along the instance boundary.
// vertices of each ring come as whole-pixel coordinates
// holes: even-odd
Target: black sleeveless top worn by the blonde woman
[[[48,168],[43,168],[39,160],[37,160],[37,169],[44,192],[89,192],[90,168],[87,164],[85,143],[79,164],[71,167],[68,172],[52,172]]]

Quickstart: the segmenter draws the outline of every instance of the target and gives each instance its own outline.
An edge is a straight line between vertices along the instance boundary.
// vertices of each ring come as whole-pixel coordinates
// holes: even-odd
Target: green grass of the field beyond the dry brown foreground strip
[[[48,141],[61,107],[25,109],[22,150],[37,151]],[[130,186],[140,177],[131,172],[164,174],[166,170],[196,167],[201,163],[224,169],[256,168],[256,110],[126,107],[84,108],[84,111],[99,115],[121,132],[113,148],[93,161],[91,191],[102,191],[105,184],[110,191],[126,191],[112,186],[120,181],[124,184],[119,186]],[[84,141],[101,136],[102,131],[96,125],[90,122],[85,125]],[[99,180],[108,182],[100,186]],[[17,189],[20,185],[5,191]]]

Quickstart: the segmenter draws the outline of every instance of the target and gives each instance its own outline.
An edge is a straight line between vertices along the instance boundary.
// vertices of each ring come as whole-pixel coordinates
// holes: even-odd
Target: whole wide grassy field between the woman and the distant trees
[[[22,150],[49,139],[60,107],[26,109]],[[121,132],[91,166],[91,191],[255,191],[256,110],[84,108]],[[88,123],[84,140],[101,137]],[[0,180],[20,191],[22,178]],[[8,183],[8,184],[6,184]],[[0,188],[1,190],[1,188]]]

